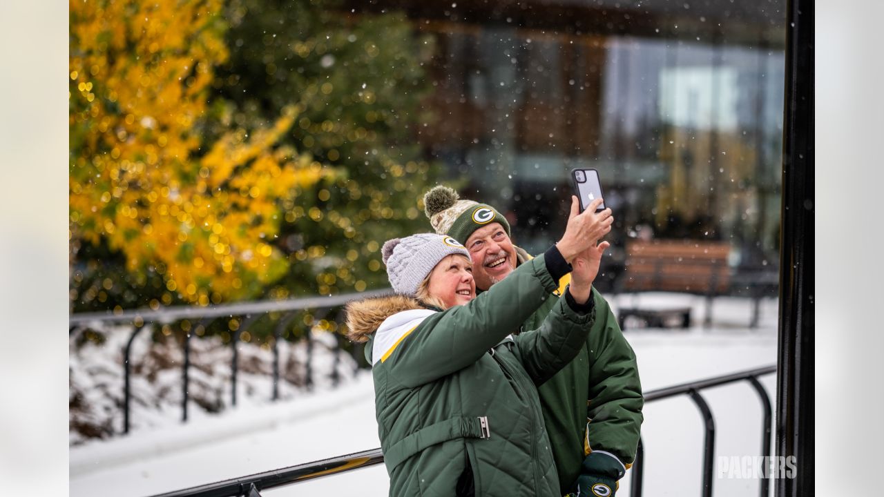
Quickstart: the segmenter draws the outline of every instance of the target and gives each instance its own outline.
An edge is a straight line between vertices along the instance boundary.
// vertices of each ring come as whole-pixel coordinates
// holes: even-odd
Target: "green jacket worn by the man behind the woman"
[[[531,260],[521,248],[516,252],[519,264]],[[583,347],[537,389],[563,494],[574,490],[590,452],[611,455],[623,471],[629,468],[644,419],[636,355],[605,298],[595,288],[592,297],[595,319]],[[537,327],[558,301],[558,296],[550,295],[525,320],[524,329]]]

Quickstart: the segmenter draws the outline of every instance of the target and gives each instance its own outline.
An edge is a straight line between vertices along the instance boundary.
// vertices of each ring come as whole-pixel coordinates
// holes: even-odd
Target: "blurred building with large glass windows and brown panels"
[[[568,171],[597,168],[627,237],[728,241],[775,265],[785,2],[351,2],[435,39],[419,130],[461,192],[508,210],[516,241],[563,228]],[[614,257],[616,259],[616,256]]]

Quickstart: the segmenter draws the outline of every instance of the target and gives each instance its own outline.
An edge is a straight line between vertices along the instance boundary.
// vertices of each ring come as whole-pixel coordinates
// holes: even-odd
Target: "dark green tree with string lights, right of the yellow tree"
[[[231,57],[216,88],[225,119],[260,124],[295,104],[283,138],[346,172],[285,205],[278,247],[293,263],[271,297],[387,286],[380,245],[426,231],[420,195],[436,167],[415,129],[430,121],[423,65],[429,37],[401,14],[355,16],[336,2],[236,0],[227,19]]]

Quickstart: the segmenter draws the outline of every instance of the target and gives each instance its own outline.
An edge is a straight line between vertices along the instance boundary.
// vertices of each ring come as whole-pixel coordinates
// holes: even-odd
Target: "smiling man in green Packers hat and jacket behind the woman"
[[[441,186],[427,192],[423,203],[436,233],[451,236],[469,250],[476,292],[492,287],[531,258],[514,246],[507,219],[492,206],[461,200],[453,189]],[[589,209],[598,203],[600,199]],[[572,218],[576,211],[572,199]],[[608,223],[613,222],[610,214],[603,213]],[[568,280],[560,280],[558,293]],[[537,328],[557,300],[550,294],[522,329]],[[537,390],[561,492],[608,497],[635,460],[644,399],[636,356],[613,312],[595,289],[591,302],[595,321],[580,354]]]

